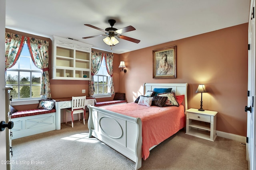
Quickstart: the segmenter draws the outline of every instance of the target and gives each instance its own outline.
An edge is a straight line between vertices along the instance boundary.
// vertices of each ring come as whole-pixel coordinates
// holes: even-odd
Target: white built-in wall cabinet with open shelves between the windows
[[[92,45],[53,36],[52,79],[91,80]]]

